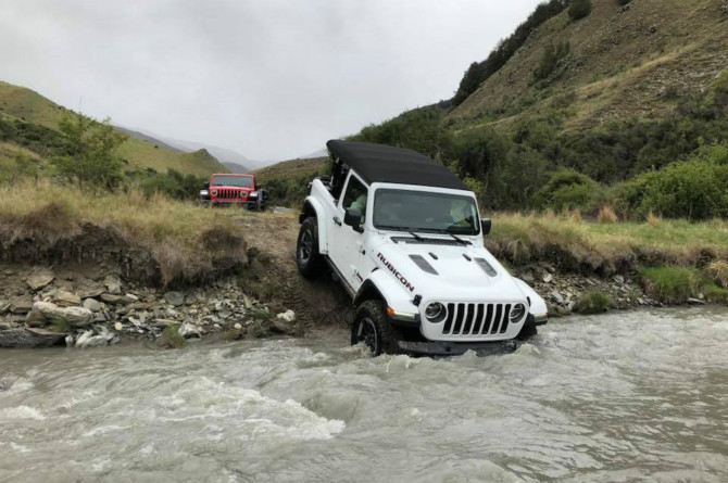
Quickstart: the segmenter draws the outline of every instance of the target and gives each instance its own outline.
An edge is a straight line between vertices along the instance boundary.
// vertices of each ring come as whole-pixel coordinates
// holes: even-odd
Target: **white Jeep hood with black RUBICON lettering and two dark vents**
[[[390,272],[407,291],[410,283],[412,292],[425,300],[526,298],[515,279],[481,246],[388,241],[372,255],[379,269]]]

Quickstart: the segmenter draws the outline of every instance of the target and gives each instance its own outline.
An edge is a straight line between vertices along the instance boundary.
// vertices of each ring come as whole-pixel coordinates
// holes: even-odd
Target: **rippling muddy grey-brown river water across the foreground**
[[[0,368],[0,481],[728,481],[725,309],[573,317],[441,360],[341,331]]]

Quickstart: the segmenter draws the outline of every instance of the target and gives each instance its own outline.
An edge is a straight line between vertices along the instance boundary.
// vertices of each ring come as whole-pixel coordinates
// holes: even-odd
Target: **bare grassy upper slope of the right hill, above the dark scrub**
[[[522,119],[570,104],[565,130],[613,119],[661,118],[680,99],[710,87],[728,66],[723,0],[593,0],[589,16],[566,11],[530,34],[509,62],[445,116],[455,131]],[[543,79],[534,71],[549,46],[569,53]]]

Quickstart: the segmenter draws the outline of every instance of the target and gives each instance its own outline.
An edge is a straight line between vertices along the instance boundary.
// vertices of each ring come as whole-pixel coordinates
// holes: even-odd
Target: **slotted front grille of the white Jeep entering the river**
[[[509,329],[511,304],[449,303],[444,335],[492,335]]]

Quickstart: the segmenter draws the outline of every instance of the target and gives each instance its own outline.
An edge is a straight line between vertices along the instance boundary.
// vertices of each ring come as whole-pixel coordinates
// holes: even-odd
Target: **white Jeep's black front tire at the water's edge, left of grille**
[[[356,308],[351,326],[351,344],[365,343],[375,357],[380,354],[399,354],[399,331],[389,323],[381,301],[366,301]]]

